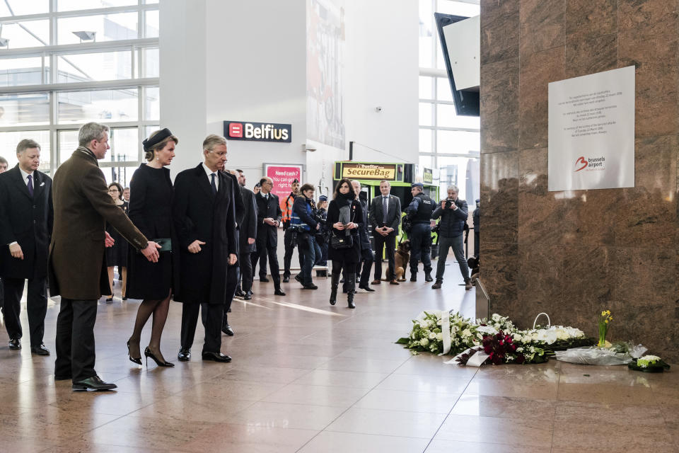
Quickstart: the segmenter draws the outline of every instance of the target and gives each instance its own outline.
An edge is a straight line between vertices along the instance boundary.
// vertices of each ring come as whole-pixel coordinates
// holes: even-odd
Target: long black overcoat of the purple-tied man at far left
[[[33,197],[28,193],[19,166],[0,174],[0,277],[47,276],[54,208],[52,179],[33,172]],[[16,241],[23,260],[12,258],[9,243]]]

